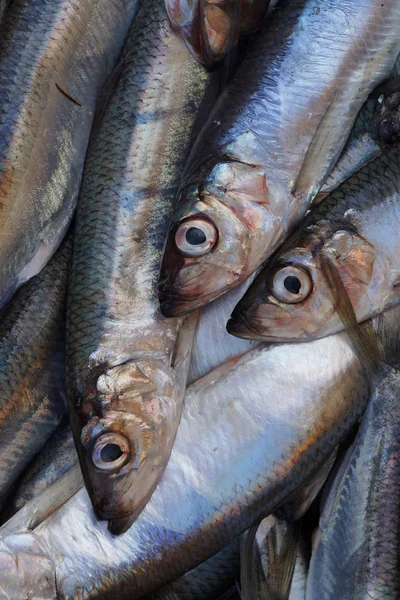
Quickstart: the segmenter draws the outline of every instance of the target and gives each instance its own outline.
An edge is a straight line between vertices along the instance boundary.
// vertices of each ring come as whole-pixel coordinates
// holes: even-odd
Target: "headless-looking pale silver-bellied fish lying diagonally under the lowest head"
[[[344,335],[260,346],[228,361],[188,389],[164,476],[129,531],[112,536],[82,490],[29,535],[17,529],[13,536],[10,521],[1,585],[23,593],[45,572],[62,600],[132,598],[158,588],[304,485],[360,417],[368,394]],[[10,564],[10,551],[20,563]]]

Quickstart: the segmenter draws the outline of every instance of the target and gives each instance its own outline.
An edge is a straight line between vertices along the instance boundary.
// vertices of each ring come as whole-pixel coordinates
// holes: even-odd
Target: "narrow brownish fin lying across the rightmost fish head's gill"
[[[361,364],[369,377],[374,378],[382,367],[382,352],[378,337],[369,319],[357,322],[353,306],[342,278],[332,259],[324,250],[319,255],[323,276],[332,296],[332,304],[341,318],[344,328]]]

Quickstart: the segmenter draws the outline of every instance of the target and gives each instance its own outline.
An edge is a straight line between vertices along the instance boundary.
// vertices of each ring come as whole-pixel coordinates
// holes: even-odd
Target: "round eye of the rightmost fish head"
[[[301,267],[286,266],[276,271],[272,293],[281,302],[294,304],[308,298],[312,291],[311,276]]]

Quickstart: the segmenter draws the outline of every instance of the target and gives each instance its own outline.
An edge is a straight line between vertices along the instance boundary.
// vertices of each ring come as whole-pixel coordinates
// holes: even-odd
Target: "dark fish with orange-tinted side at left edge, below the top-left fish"
[[[0,503],[66,412],[71,239],[0,314]]]

